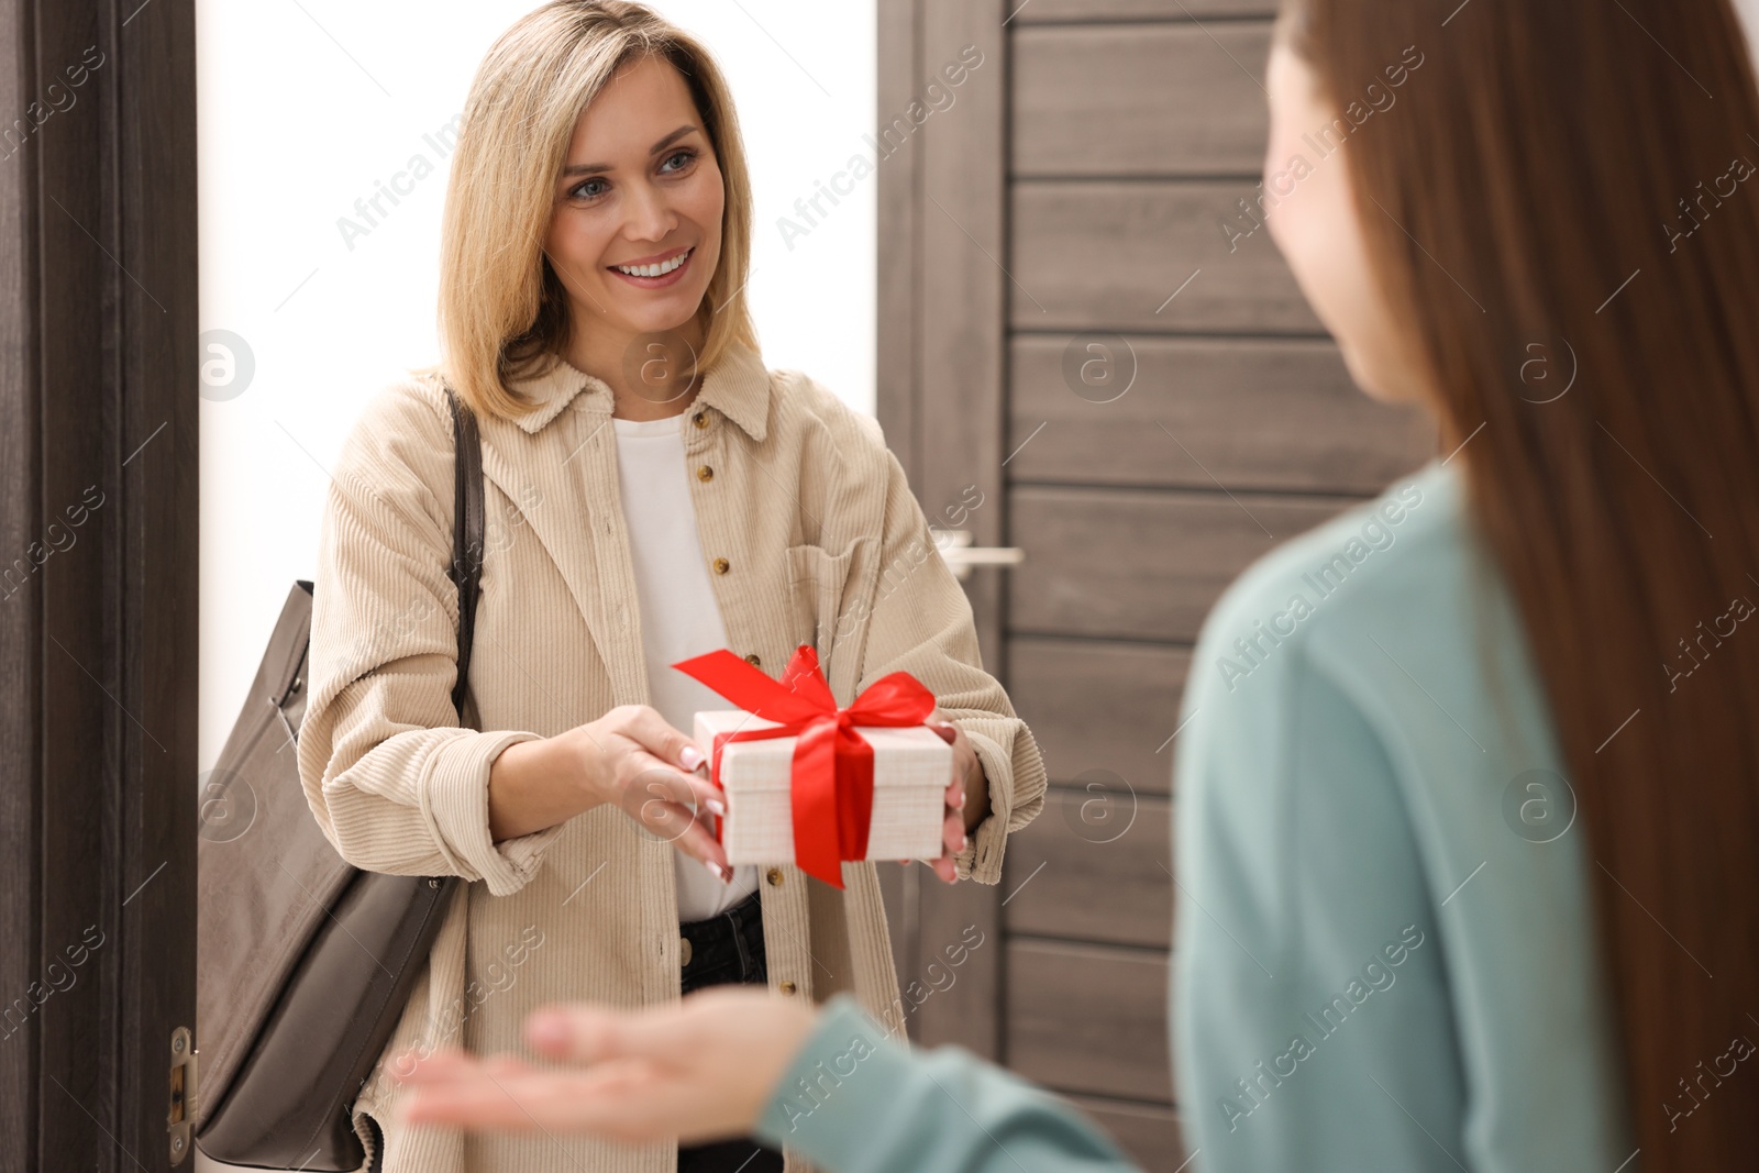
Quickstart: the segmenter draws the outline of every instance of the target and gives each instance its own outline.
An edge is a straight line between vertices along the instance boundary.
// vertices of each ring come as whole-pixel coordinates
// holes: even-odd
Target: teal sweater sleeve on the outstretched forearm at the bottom
[[[763,1108],[756,1136],[832,1173],[1126,1173],[1071,1104],[959,1046],[918,1052],[839,994]]]

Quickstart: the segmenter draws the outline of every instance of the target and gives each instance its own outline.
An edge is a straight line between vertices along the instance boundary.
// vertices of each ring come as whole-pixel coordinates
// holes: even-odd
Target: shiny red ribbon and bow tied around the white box
[[[837,709],[818,652],[795,649],[781,681],[772,681],[725,647],[679,659],[679,672],[702,681],[774,728],[714,735],[712,776],[721,776],[726,742],[797,737],[793,744],[793,862],[834,888],[843,886],[843,860],[867,858],[874,807],[874,747],[857,725],[922,725],[934,712],[934,693],[908,672],[874,681],[848,709]]]

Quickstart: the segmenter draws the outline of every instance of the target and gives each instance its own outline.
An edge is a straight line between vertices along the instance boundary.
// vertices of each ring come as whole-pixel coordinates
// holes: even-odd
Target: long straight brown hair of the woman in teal
[[[1442,450],[1465,445],[1581,805],[1639,1164],[1750,1168],[1759,1069],[1713,1071],[1759,1041],[1741,25],[1727,0],[1286,0],[1279,33],[1339,111],[1423,53],[1346,153],[1370,262]]]

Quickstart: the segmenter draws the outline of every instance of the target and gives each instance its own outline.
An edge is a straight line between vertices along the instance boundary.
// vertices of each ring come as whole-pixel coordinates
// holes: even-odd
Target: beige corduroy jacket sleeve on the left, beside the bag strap
[[[318,540],[299,777],[336,851],[364,871],[524,886],[561,823],[493,842],[489,765],[524,730],[461,728],[452,426],[399,383],[336,461]],[[442,496],[443,494],[443,496]]]

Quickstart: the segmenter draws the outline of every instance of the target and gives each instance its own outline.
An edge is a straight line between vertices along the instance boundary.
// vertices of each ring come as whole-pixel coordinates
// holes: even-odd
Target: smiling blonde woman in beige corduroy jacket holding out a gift
[[[299,740],[350,863],[470,881],[355,1129],[385,1173],[806,1169],[749,1138],[406,1129],[387,1057],[514,1050],[545,1002],[725,983],[846,992],[901,1027],[874,863],[843,890],[726,865],[684,733],[726,702],[677,659],[730,647],[776,675],[809,644],[843,705],[897,670],[931,688],[955,751],[943,881],[997,883],[1043,805],[1038,747],[878,427],[763,366],[751,185],[700,42],[614,0],[517,21],[471,86],[443,232],[443,362],[376,396],[334,470]],[[489,514],[468,728],[445,387],[478,420]]]

